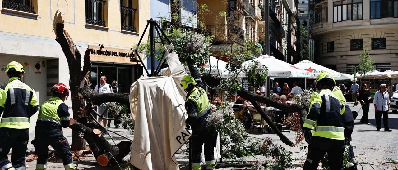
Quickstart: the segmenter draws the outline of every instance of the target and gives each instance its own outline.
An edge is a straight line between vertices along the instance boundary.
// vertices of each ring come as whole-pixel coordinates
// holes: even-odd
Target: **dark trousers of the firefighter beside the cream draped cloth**
[[[192,131],[193,132],[193,131]],[[198,133],[192,133],[189,144],[192,146],[192,163],[201,162],[202,146],[205,143],[205,161],[214,159],[214,147],[216,147],[217,136],[207,134],[207,130]]]

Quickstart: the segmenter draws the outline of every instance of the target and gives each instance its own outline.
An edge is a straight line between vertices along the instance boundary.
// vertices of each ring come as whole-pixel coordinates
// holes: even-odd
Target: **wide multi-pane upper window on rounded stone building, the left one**
[[[333,22],[362,19],[362,0],[333,2]]]

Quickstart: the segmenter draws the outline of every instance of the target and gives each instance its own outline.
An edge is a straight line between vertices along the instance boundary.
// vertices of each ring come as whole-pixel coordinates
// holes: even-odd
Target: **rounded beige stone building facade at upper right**
[[[352,74],[363,45],[376,70],[398,70],[398,1],[315,1],[315,61]]]

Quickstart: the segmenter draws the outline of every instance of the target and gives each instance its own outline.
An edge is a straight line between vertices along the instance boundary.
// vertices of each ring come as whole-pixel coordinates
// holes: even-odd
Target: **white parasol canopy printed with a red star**
[[[334,71],[330,68],[326,68],[324,66],[321,66],[319,64],[315,64],[314,62],[308,61],[308,60],[302,60],[300,62],[298,62],[297,64],[293,65],[297,68],[303,69],[303,70],[307,70],[311,72],[311,78],[316,78],[318,77],[319,73],[321,73],[322,71],[329,71],[330,73],[332,73],[334,78],[339,78],[341,77],[341,73]]]

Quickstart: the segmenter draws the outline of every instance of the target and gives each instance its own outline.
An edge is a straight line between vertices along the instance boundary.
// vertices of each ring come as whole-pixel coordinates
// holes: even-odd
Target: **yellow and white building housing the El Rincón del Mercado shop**
[[[51,97],[55,83],[69,85],[68,64],[53,31],[57,10],[80,53],[94,49],[90,55],[93,88],[105,75],[108,84],[116,80],[121,92],[128,93],[142,75],[131,47],[149,19],[147,0],[2,0],[0,6],[0,86],[8,82],[5,67],[13,60],[24,65],[23,81],[35,89],[39,104]],[[71,107],[70,99],[66,104]],[[30,121],[32,127],[35,118]]]

